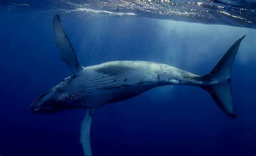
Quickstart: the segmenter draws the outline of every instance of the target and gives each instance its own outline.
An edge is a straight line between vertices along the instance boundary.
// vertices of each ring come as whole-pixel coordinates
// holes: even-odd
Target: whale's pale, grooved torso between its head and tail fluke
[[[112,61],[89,66],[77,76],[66,79],[66,97],[76,108],[98,108],[119,102],[145,91],[172,84],[199,85],[198,75],[156,62]],[[202,82],[201,82],[202,83]],[[63,98],[61,96],[60,98]]]

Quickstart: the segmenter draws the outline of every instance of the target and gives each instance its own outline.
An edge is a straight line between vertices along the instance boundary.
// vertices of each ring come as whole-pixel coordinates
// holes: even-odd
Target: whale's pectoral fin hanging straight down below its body
[[[80,143],[83,146],[85,156],[92,155],[91,151],[91,123],[95,109],[86,109],[85,117],[81,124]]]

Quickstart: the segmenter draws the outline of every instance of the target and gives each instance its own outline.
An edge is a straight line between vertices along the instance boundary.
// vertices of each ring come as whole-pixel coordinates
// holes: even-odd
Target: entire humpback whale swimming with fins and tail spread
[[[234,42],[210,73],[196,75],[177,67],[148,61],[111,61],[83,67],[66,36],[58,14],[53,17],[52,24],[61,60],[68,65],[72,75],[39,97],[31,105],[31,109],[34,112],[86,109],[80,131],[80,143],[86,156],[92,155],[90,131],[95,109],[159,86],[198,86],[212,96],[226,115],[237,116],[233,108],[230,74],[240,42],[245,35]]]

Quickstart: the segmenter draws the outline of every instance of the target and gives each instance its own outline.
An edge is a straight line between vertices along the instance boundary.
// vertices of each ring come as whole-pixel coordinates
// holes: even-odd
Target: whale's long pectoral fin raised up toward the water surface
[[[75,49],[72,47],[69,38],[66,36],[58,14],[53,17],[52,25],[55,32],[55,42],[60,51],[61,60],[68,65],[73,75],[78,75],[83,70],[83,67],[77,60]]]

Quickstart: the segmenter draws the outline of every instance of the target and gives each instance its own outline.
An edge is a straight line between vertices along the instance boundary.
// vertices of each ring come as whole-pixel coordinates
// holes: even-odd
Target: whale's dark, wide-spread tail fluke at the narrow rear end
[[[233,108],[233,97],[231,91],[231,68],[237,55],[240,42],[245,35],[240,37],[224,54],[223,58],[212,69],[210,74],[201,76],[199,79],[205,82],[201,88],[208,91],[217,105],[230,117],[237,114]]]

